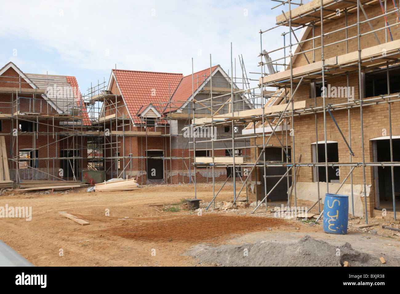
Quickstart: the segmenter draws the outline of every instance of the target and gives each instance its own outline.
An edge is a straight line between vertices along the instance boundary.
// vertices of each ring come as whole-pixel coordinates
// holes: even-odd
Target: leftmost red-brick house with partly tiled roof
[[[14,181],[80,180],[87,147],[77,134],[91,123],[74,76],[25,74],[9,62],[0,69],[0,110]]]

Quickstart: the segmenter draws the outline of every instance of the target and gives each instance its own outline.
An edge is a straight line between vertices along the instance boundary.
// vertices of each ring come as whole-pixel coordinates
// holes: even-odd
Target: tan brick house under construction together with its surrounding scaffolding
[[[237,162],[232,152],[225,162],[212,158],[195,165],[246,169],[241,188],[234,188],[235,201],[247,195],[322,212],[325,193],[345,194],[349,213],[365,216],[367,223],[382,214],[396,219],[399,3],[275,1],[276,25],[260,31],[253,90],[262,107],[194,120],[232,128],[246,122],[231,140],[249,140],[251,160]],[[280,48],[263,42],[271,30],[285,31]],[[276,90],[267,92],[270,87]],[[238,93],[232,89],[231,96]]]

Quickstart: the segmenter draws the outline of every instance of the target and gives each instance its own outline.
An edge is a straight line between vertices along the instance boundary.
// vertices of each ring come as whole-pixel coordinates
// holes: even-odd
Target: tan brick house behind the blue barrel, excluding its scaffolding
[[[294,146],[296,154],[290,159],[290,162],[296,160],[301,155],[301,162],[325,164],[325,139],[324,139],[324,113],[317,111],[322,106],[322,91],[326,93],[326,105],[334,105],[330,110],[336,120],[344,137],[351,146],[354,156],[350,154],[350,150],[343,140],[334,120],[326,112],[326,140],[327,140],[327,161],[328,163],[342,163],[338,167],[330,166],[328,168],[328,178],[326,178],[325,167],[301,166],[296,177],[296,193],[297,206],[311,207],[318,200],[317,190],[320,190],[320,196],[324,198],[326,193],[326,182],[330,193],[335,193],[346,176],[351,170],[350,164],[345,163],[358,162],[359,165],[352,172],[352,187],[350,185],[350,177],[346,180],[339,194],[351,195],[353,192],[354,198],[354,214],[362,216],[365,214],[365,196],[367,203],[368,216],[382,215],[382,210],[387,210],[389,216],[393,216],[393,201],[392,201],[392,178],[391,168],[384,166],[366,166],[366,192],[363,188],[363,168],[362,168],[362,141],[361,141],[361,117],[360,103],[358,100],[370,100],[369,103],[363,103],[363,130],[364,130],[364,154],[365,162],[399,162],[398,148],[400,147],[400,125],[398,118],[400,117],[400,104],[396,102],[387,103],[389,98],[380,97],[395,94],[397,97],[400,89],[398,88],[398,79],[400,78],[400,66],[398,64],[398,48],[400,48],[400,33],[392,27],[392,29],[378,30],[386,25],[386,20],[382,14],[379,2],[372,1],[363,5],[364,14],[360,14],[360,60],[361,73],[358,72],[358,31],[357,31],[357,11],[356,6],[350,2],[333,3],[333,1],[324,0],[324,5],[331,4],[332,11],[328,17],[328,10],[324,10],[323,32],[324,32],[324,80],[322,84],[322,51],[321,51],[321,23],[319,22],[320,11],[315,11],[315,16],[297,18],[294,20],[294,26],[307,24],[312,20],[312,26],[305,26],[302,29],[299,46],[294,47],[295,52],[300,54],[293,58],[293,84],[294,87],[303,77],[302,83],[298,87],[296,94],[293,96],[295,102],[305,102],[303,109],[296,110],[294,122],[289,122],[293,128]],[[321,1],[314,0],[292,9],[292,18],[302,14],[314,15],[313,9],[318,9]],[[389,5],[389,4],[388,4]],[[292,6],[293,7],[293,6]],[[307,10],[309,9],[309,10]],[[300,12],[301,10],[301,12]],[[388,11],[394,11],[393,8],[388,8]],[[286,13],[286,17],[288,17]],[[396,18],[396,14],[392,14],[392,18]],[[317,20],[316,20],[317,19]],[[277,17],[277,23],[285,21],[284,16]],[[336,31],[339,28],[351,26],[346,31]],[[393,24],[393,22],[390,22]],[[287,25],[287,23],[286,23]],[[371,26],[376,31],[376,36],[371,32]],[[336,31],[336,32],[334,32]],[[329,33],[329,34],[328,34]],[[344,40],[344,34],[348,36],[348,40]],[[316,38],[312,40],[313,36]],[[306,40],[306,41],[305,41]],[[314,50],[312,50],[315,48]],[[272,49],[272,48],[269,48]],[[304,51],[304,54],[300,50]],[[314,54],[315,53],[315,54]],[[287,80],[290,79],[290,67],[284,71],[270,74],[262,80],[263,85],[277,86],[281,92],[285,90],[290,98],[290,84]],[[285,82],[286,80],[286,82]],[[361,84],[360,84],[361,83]],[[326,87],[326,88],[324,88]],[[361,90],[361,92],[360,92]],[[377,100],[378,98],[378,100]],[[374,100],[375,99],[375,100]],[[396,100],[396,98],[391,98]],[[282,102],[282,98],[280,101]],[[285,103],[284,101],[282,103]],[[343,104],[340,108],[335,106]],[[310,110],[310,107],[315,108],[315,113]],[[330,106],[329,106],[330,107]],[[319,108],[321,109],[321,108]],[[391,129],[394,157],[390,160],[390,120],[389,109],[391,112]],[[281,125],[282,126],[282,125]],[[258,126],[256,132],[262,132],[263,126]],[[283,126],[284,127],[284,126]],[[248,126],[248,129],[254,128],[253,125]],[[266,135],[271,134],[271,130],[264,126]],[[288,129],[289,129],[288,128]],[[317,128],[317,130],[316,130]],[[282,136],[284,146],[288,144],[292,146],[292,136],[288,136],[286,143],[286,128],[284,131],[277,132],[278,136]],[[351,139],[350,139],[351,130]],[[246,132],[246,130],[244,130]],[[257,140],[259,143],[262,139]],[[270,144],[272,147],[266,148],[267,160],[281,161],[282,148],[276,138],[271,138]],[[317,157],[317,150],[318,157]],[[260,149],[258,150],[260,152]],[[290,155],[290,154],[289,154]],[[258,154],[252,150],[252,158]],[[284,160],[285,161],[285,160]],[[283,174],[286,168],[277,168],[276,174]],[[268,168],[268,174],[274,174],[274,170]],[[258,168],[258,180],[264,175],[263,168]],[[252,174],[255,178],[255,173]],[[319,182],[318,182],[319,180]],[[291,181],[291,179],[290,179]],[[275,181],[276,182],[276,181]],[[269,183],[267,190],[275,184]],[[271,200],[286,201],[287,188],[286,180],[283,181],[284,188],[277,191],[275,197]],[[396,210],[400,209],[400,170],[398,166],[394,167],[394,194],[396,199]],[[291,182],[290,182],[291,185]],[[258,185],[257,198],[264,198],[264,181]],[[351,190],[351,188],[353,190]],[[256,199],[256,194],[252,194],[251,198]],[[350,206],[352,204],[349,197]],[[290,195],[290,206],[294,206],[294,192]],[[323,209],[323,200],[320,206]],[[318,205],[314,206],[312,212],[318,212]]]

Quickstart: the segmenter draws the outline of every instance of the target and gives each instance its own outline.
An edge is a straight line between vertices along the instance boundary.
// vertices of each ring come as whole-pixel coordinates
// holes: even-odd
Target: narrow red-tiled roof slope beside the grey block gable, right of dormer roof
[[[211,72],[214,72],[214,70],[219,66],[212,66]],[[195,72],[193,74],[193,80],[192,82],[192,74],[188,74],[187,76],[184,76],[182,80],[180,81],[180,84],[174,94],[172,95],[173,102],[171,102],[171,112],[178,110],[185,102],[187,101],[190,96],[192,96],[193,92],[195,92],[200,86],[202,86],[204,80],[206,80],[210,76],[210,68],[206,68],[204,70],[200,70],[198,72]],[[193,85],[193,89],[192,89]],[[163,111],[164,113],[170,112],[169,110],[169,104],[167,104],[168,107],[165,108]],[[173,107],[174,106],[174,107]]]

